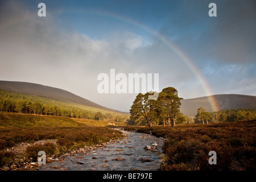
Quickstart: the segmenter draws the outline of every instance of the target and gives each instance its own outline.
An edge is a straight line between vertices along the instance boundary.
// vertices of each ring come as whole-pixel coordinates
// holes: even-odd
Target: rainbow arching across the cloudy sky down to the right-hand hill
[[[64,13],[67,13],[67,11],[65,11]],[[215,101],[214,96],[211,92],[210,86],[204,80],[204,78],[201,75],[199,69],[197,69],[197,67],[193,64],[193,61],[191,59],[189,59],[188,56],[185,55],[185,53],[183,51],[181,51],[181,49],[179,47],[177,47],[174,43],[172,43],[170,40],[168,40],[165,36],[159,34],[159,32],[153,30],[150,27],[145,26],[144,24],[142,24],[142,23],[140,23],[140,22],[138,22],[134,19],[127,18],[126,16],[122,16],[122,15],[119,15],[119,14],[114,14],[114,13],[108,12],[108,11],[87,10],[87,9],[69,9],[68,13],[88,13],[88,14],[93,14],[93,15],[108,16],[110,18],[115,18],[115,19],[121,20],[123,22],[130,23],[134,26],[142,28],[142,30],[146,30],[147,32],[150,32],[150,34],[154,35],[156,38],[158,38],[164,44],[166,44],[166,46],[170,47],[181,58],[181,60],[183,60],[184,63],[187,64],[189,69],[191,69],[191,71],[196,75],[196,77],[200,81],[200,84],[203,86],[204,92],[208,96],[208,99],[209,99],[210,105],[212,107],[212,110],[213,111],[220,110],[220,108],[218,107],[217,102]],[[60,14],[63,14],[63,12],[59,11],[59,10],[51,12],[51,16],[54,16],[54,15],[57,16],[57,15],[60,15]],[[0,28],[5,28],[5,27],[8,27],[8,26],[11,26],[12,24],[20,22],[23,19],[24,19],[24,16],[21,16],[21,17],[19,16],[19,18],[16,18],[14,20],[6,20],[5,24],[2,24],[2,26]]]

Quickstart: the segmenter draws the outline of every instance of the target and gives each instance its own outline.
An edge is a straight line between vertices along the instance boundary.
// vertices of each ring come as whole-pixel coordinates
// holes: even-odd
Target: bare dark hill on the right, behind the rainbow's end
[[[210,97],[214,98],[214,103],[218,106],[219,110],[256,109],[256,96],[219,94]],[[209,96],[181,100],[180,111],[185,115],[195,117],[199,107],[203,107],[208,112],[212,112],[213,109],[210,103]]]

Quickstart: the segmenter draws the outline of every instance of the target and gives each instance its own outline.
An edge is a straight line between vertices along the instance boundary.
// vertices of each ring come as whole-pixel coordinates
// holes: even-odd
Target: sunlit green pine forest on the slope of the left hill
[[[108,111],[75,104],[68,101],[52,100],[51,98],[32,96],[0,89],[0,111],[54,115],[82,119],[115,119],[124,122],[127,115],[108,113]]]

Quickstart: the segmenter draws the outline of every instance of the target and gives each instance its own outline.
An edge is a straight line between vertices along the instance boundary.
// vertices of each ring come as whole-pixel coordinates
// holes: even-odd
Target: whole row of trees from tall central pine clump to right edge
[[[154,94],[158,94],[155,97]],[[154,98],[155,97],[155,98]],[[160,93],[139,93],[130,109],[129,125],[171,125],[192,123],[214,123],[233,121],[253,121],[256,119],[256,109],[232,109],[217,112],[207,112],[203,107],[197,110],[195,117],[189,117],[180,112],[180,98],[173,87],[164,88]]]

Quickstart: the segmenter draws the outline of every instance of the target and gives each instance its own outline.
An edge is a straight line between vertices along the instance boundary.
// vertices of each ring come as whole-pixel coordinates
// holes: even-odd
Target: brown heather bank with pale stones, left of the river
[[[120,137],[123,137],[121,131],[108,127],[1,127],[0,168],[34,168],[39,151],[46,151],[47,158],[53,159],[84,146],[92,147]]]

